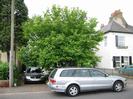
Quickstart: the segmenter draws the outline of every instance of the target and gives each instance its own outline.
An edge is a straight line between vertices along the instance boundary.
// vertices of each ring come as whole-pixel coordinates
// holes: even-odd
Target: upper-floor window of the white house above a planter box
[[[117,48],[127,48],[127,46],[125,46],[125,37],[124,36],[115,36],[116,38],[116,47]]]

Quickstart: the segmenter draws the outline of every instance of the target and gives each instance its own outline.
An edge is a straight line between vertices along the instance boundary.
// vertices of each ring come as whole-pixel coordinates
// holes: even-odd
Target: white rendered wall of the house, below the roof
[[[125,37],[125,46],[128,46],[127,49],[120,49],[116,47],[115,36],[124,36]],[[113,69],[113,56],[132,56],[133,61],[133,34],[127,33],[107,33],[105,34],[105,39],[100,43],[99,51],[97,55],[101,57],[101,62],[98,63],[99,68],[108,68]]]

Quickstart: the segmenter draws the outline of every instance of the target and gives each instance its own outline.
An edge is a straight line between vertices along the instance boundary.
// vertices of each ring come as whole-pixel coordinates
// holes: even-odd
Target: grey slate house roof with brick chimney
[[[121,21],[117,21],[118,19]],[[127,24],[120,10],[116,10],[114,13],[111,14],[109,23],[103,26],[101,30],[104,33],[119,32],[119,33],[132,33],[133,34],[133,26]]]

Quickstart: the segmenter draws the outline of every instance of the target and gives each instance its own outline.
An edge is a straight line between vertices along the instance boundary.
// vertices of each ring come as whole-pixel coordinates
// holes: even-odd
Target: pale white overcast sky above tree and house
[[[56,4],[60,7],[79,7],[87,12],[88,18],[97,18],[99,26],[106,25],[111,13],[121,10],[123,17],[129,25],[133,26],[133,1],[132,0],[24,0],[28,7],[29,17],[43,15],[48,8]]]

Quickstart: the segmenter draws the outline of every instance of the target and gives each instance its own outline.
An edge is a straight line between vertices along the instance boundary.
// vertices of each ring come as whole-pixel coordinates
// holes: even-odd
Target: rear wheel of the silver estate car
[[[77,85],[70,85],[67,88],[66,93],[71,97],[77,96],[79,94],[79,87]]]

